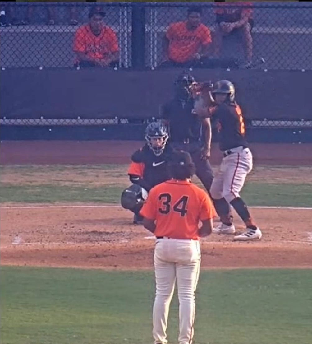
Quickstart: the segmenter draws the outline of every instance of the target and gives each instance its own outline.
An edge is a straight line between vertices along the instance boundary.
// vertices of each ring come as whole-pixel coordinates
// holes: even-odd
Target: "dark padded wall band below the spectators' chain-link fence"
[[[181,72],[5,70],[0,72],[0,115],[7,119],[157,118]],[[312,120],[312,71],[196,69],[192,74],[199,81],[232,80],[248,118]]]

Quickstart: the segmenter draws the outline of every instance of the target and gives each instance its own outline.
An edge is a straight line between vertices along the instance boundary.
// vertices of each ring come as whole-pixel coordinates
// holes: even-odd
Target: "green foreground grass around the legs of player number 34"
[[[196,297],[197,344],[312,343],[311,270],[202,271]],[[152,272],[2,267],[1,343],[152,343],[153,298]]]

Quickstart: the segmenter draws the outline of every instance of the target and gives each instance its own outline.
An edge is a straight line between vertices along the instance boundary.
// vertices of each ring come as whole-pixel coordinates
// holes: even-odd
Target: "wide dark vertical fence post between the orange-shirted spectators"
[[[144,3],[132,3],[131,15],[131,62],[133,68],[145,67],[145,6]]]

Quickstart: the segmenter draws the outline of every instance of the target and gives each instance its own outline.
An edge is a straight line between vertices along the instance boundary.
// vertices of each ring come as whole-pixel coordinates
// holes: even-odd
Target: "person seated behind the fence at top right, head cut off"
[[[218,1],[219,2],[219,1]],[[242,6],[250,6],[242,8]],[[246,68],[252,67],[253,37],[251,31],[254,25],[252,2],[221,2],[215,8],[215,55],[220,56],[223,36],[238,31],[241,34],[246,54]]]

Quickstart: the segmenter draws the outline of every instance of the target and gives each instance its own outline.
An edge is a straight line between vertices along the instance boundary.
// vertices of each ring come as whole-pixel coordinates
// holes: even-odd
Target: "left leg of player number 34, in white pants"
[[[156,297],[153,307],[154,343],[167,344],[167,321],[169,306],[174,293],[176,267],[175,263],[162,260],[161,251],[156,249],[154,267],[156,278]]]

